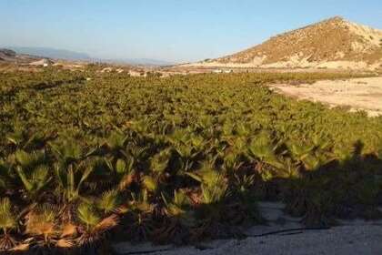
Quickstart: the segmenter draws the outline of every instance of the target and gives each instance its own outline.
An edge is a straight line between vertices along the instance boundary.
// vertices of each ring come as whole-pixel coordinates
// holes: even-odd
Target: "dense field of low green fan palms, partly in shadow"
[[[241,236],[260,200],[307,226],[379,218],[382,117],[266,87],[349,76],[1,73],[0,250]]]

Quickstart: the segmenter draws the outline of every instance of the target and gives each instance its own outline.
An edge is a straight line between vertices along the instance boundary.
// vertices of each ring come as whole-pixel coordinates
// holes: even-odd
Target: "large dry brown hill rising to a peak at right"
[[[342,17],[271,37],[265,43],[194,66],[380,68],[382,30]]]

